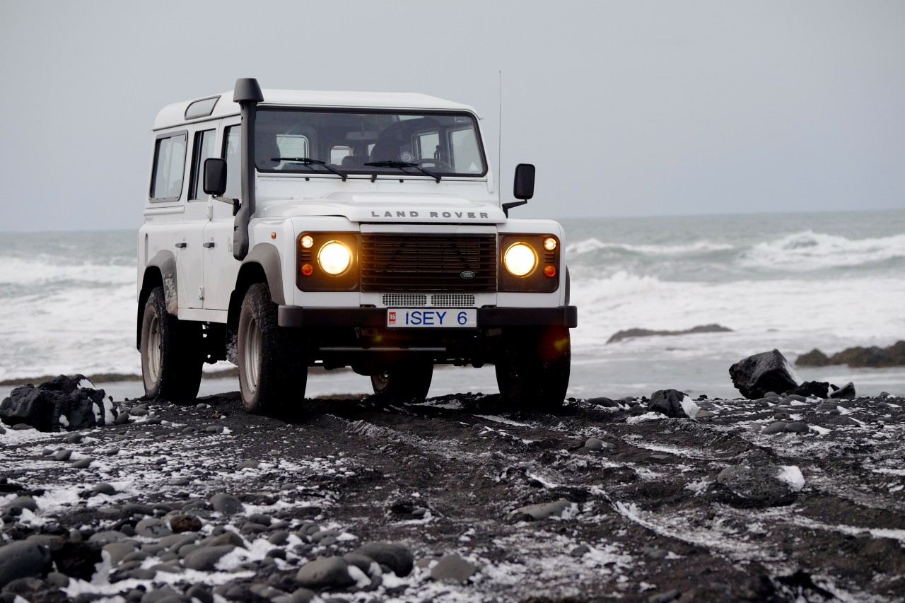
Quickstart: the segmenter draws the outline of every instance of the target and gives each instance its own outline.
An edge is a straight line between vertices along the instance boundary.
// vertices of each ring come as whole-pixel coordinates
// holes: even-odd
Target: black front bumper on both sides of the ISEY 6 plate
[[[386,327],[386,308],[300,308],[280,306],[281,327]],[[578,325],[576,306],[556,308],[478,308],[478,328]],[[456,329],[460,330],[460,329]]]

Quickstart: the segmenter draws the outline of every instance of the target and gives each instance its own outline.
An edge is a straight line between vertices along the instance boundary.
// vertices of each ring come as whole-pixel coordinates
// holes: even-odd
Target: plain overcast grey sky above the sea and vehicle
[[[905,206],[895,0],[5,0],[0,53],[3,231],[137,228],[157,111],[237,77],[471,104],[514,215]]]

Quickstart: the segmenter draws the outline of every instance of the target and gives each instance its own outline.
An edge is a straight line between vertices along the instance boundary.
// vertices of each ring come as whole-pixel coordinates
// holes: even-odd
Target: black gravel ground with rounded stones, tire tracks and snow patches
[[[905,598],[902,398],[197,402],[5,426],[4,600]]]

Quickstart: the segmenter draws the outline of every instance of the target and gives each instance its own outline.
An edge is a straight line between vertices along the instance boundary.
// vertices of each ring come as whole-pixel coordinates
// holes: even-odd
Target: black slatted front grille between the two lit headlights
[[[361,290],[495,292],[497,237],[361,235]]]

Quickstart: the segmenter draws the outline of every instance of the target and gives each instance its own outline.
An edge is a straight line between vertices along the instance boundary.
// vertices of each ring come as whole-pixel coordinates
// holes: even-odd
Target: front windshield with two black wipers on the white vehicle
[[[487,173],[470,113],[274,110],[255,119],[261,172],[375,177],[481,177]],[[336,177],[335,175],[333,177]]]

